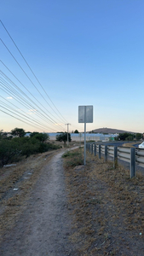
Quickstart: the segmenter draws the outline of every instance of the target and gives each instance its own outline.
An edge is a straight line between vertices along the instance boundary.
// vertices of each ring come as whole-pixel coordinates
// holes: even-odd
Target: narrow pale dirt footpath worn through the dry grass
[[[26,210],[17,218],[14,229],[4,236],[1,256],[77,255],[68,240],[71,220],[67,210],[62,154],[55,155],[44,166],[26,202]]]

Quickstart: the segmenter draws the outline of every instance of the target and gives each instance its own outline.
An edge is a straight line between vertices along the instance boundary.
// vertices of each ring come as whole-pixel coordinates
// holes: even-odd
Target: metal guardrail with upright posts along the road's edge
[[[126,148],[110,145],[101,145],[96,143],[86,143],[86,148],[91,154],[104,155],[105,161],[107,157],[113,160],[113,167],[118,165],[118,160],[124,160],[130,163],[130,177],[135,177],[135,164],[144,167],[144,149],[143,148]]]

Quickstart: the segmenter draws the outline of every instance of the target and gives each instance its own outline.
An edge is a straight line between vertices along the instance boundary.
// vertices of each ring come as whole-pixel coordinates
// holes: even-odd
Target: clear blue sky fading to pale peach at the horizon
[[[144,132],[143,0],[2,0],[0,130]],[[70,124],[70,125],[66,125]]]

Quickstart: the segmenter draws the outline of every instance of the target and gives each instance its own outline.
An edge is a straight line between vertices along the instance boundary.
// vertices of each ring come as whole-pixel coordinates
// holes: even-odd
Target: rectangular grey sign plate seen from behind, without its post
[[[86,110],[86,120],[84,119]],[[93,123],[93,106],[78,106],[78,123]]]

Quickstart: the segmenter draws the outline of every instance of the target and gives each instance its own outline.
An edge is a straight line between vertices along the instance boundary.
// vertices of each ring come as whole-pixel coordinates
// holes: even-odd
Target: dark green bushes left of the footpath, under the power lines
[[[31,154],[60,148],[55,143],[49,143],[49,136],[45,133],[32,132],[30,137],[25,135],[22,128],[12,130],[9,137],[5,132],[0,132],[0,166],[20,161]]]

